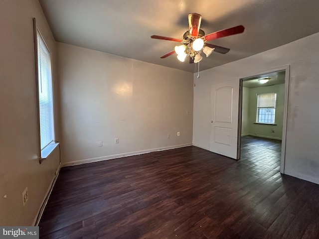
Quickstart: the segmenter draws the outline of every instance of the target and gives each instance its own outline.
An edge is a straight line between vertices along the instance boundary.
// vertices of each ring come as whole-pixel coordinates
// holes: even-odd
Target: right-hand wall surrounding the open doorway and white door
[[[193,143],[209,148],[213,83],[271,72],[290,65],[285,173],[319,184],[319,33],[200,72],[194,87]],[[194,79],[196,74],[194,74]]]

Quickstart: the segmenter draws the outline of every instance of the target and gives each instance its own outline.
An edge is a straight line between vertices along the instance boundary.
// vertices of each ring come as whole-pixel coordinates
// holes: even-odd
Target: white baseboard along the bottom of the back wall
[[[113,155],[96,157],[96,158],[76,160],[76,161],[62,163],[62,167],[74,166],[74,165],[79,165],[79,164],[84,164],[84,163],[99,162],[99,161],[104,161],[104,160],[109,160],[109,159],[114,159],[114,158],[123,158],[123,157],[128,157],[128,156],[134,156],[134,155],[139,155],[139,154],[144,154],[144,153],[168,150],[168,149],[173,149],[173,148],[181,148],[181,147],[187,147],[187,146],[192,146],[192,144],[185,143],[185,144],[179,144],[179,145],[173,145],[173,146],[167,146],[167,147],[152,148],[152,149],[146,149],[146,150],[141,150],[141,151],[126,152],[126,153],[119,153],[119,154],[113,154]]]

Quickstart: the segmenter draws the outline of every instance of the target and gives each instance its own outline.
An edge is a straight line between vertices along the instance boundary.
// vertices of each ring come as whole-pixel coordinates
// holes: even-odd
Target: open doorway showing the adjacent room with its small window
[[[289,66],[240,79],[237,159],[285,172],[288,83]]]

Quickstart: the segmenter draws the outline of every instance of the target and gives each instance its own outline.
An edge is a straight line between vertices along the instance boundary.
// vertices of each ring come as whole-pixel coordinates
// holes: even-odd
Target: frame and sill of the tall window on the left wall
[[[52,140],[43,148],[41,147],[41,127],[40,127],[40,96],[39,96],[39,59],[38,59],[38,41],[37,38],[38,36],[41,38],[47,52],[49,55],[49,67],[50,67],[50,72],[49,74],[51,75],[51,111],[52,111],[52,133],[53,133],[53,137]],[[55,111],[54,111],[54,84],[53,84],[53,72],[52,72],[52,52],[50,50],[50,48],[48,47],[41,31],[39,28],[37,28],[36,26],[36,20],[35,18],[33,18],[33,38],[34,38],[34,62],[35,62],[35,87],[36,87],[36,105],[37,105],[37,120],[38,120],[38,159],[39,159],[39,163],[41,164],[41,162],[46,159],[51,152],[57,147],[58,143],[56,143],[55,141]]]

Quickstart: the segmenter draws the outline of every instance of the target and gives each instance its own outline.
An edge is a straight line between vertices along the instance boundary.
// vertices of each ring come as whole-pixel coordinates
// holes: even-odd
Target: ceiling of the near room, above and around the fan
[[[205,34],[244,25],[242,34],[209,43],[230,48],[213,52],[200,70],[216,67],[319,32],[319,0],[39,0],[56,41],[133,58],[183,71],[197,64],[179,62],[177,42],[151,35],[182,38],[188,13],[202,15]]]

